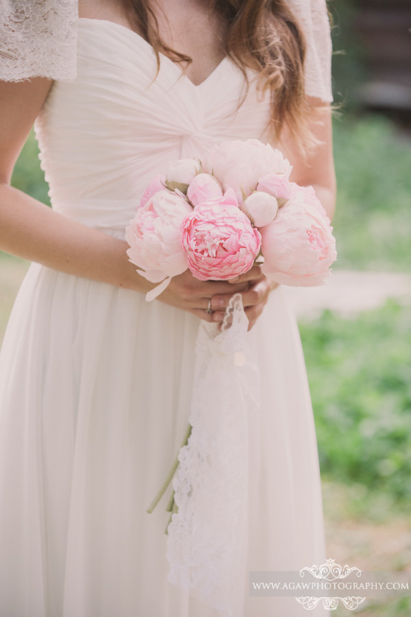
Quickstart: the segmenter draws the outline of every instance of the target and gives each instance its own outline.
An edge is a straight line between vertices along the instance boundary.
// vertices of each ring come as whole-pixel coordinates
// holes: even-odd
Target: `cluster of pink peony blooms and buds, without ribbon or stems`
[[[147,300],[187,268],[200,280],[228,280],[256,261],[270,280],[322,285],[336,241],[314,189],[290,182],[291,171],[279,150],[249,139],[156,176],[126,228],[130,262],[160,283]]]

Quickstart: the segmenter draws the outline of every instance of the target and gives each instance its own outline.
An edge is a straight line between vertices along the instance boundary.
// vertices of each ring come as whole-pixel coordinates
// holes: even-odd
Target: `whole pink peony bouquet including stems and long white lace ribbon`
[[[130,261],[158,283],[146,299],[187,268],[199,280],[229,280],[261,263],[284,285],[322,285],[336,259],[331,224],[314,189],[290,182],[291,171],[281,152],[248,140],[178,160],[156,176],[126,229]],[[248,414],[259,396],[247,326],[240,294],[220,334],[201,322],[187,432],[148,507],[173,480],[168,579],[228,614],[247,529]]]

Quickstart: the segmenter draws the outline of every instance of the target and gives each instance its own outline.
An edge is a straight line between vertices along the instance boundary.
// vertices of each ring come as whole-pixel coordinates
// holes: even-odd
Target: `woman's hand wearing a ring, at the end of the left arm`
[[[248,273],[247,273],[248,274]],[[173,276],[166,289],[158,295],[157,300],[176,306],[178,309],[189,311],[206,322],[217,321],[214,319],[215,313],[207,313],[209,300],[216,294],[218,297],[230,298],[233,293],[246,291],[250,276],[244,274],[238,282],[228,282],[226,280],[198,280],[189,270]],[[252,275],[251,275],[252,276]],[[211,300],[212,302],[212,300]],[[213,306],[211,306],[213,309]],[[224,315],[224,311],[222,313]]]

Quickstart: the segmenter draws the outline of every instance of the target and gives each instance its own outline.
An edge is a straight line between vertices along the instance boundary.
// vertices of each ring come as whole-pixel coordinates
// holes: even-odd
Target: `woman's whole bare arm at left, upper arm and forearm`
[[[126,243],[54,212],[10,186],[16,158],[52,82],[0,82],[0,249],[68,274],[148,291]]]

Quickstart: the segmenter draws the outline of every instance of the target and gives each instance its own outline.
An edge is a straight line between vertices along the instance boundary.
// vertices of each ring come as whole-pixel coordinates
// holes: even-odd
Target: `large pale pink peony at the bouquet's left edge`
[[[192,212],[187,201],[167,190],[158,191],[137,209],[126,228],[127,254],[139,274],[151,282],[176,276],[187,269],[187,256],[180,243],[181,228]]]

